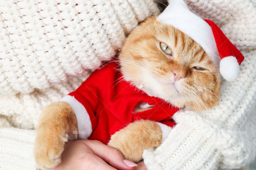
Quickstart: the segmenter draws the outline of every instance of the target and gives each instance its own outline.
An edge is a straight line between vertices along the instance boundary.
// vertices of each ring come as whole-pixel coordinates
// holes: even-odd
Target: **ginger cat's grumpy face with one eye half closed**
[[[201,111],[217,101],[218,70],[199,44],[151,17],[127,37],[119,55],[126,80],[177,107]]]

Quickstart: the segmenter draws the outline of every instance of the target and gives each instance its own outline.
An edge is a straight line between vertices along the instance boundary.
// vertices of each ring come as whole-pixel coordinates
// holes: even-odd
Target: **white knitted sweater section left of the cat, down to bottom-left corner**
[[[153,0],[1,0],[0,169],[35,169],[35,131],[23,129],[34,129],[43,107],[77,89],[138,22],[157,14]]]

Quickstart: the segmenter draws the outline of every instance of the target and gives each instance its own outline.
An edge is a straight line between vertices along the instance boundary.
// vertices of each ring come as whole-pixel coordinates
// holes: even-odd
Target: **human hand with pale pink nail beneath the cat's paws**
[[[137,166],[125,160],[117,149],[91,140],[67,142],[61,158],[61,163],[51,170],[134,170]]]

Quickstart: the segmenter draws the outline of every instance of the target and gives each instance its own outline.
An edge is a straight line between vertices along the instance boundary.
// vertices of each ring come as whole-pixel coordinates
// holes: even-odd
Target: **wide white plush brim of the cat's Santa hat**
[[[183,0],[170,0],[169,5],[157,17],[160,23],[172,25],[197,42],[213,63],[219,66],[219,53],[211,26],[189,10]]]

